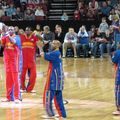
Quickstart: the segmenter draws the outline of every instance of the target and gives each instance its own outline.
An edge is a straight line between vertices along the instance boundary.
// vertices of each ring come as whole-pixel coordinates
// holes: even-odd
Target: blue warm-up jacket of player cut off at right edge
[[[116,84],[120,85],[120,50],[116,50],[112,62],[116,64]]]

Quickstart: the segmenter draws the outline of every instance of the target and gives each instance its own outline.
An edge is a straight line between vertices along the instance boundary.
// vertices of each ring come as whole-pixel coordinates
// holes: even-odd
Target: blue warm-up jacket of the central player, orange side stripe
[[[45,53],[45,60],[49,61],[48,76],[46,89],[48,90],[63,90],[64,74],[62,68],[61,53],[59,50]]]

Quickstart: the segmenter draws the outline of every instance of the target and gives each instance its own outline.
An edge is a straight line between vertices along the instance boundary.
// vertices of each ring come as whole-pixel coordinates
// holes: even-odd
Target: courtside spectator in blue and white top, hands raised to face
[[[88,39],[88,33],[85,29],[85,26],[80,27],[78,32],[78,43],[77,43],[77,56],[80,57],[81,49],[83,50],[83,56],[88,57],[89,52],[89,39]]]

